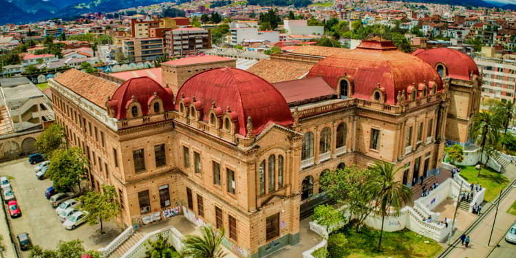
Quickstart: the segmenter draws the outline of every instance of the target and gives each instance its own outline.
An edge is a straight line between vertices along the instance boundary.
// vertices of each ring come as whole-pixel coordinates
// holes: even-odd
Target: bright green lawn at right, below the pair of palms
[[[478,171],[475,166],[460,166],[460,176],[473,184],[480,184],[486,188],[484,200],[486,202],[492,202],[499,195],[500,190],[504,189],[509,183],[509,180],[502,175],[490,168],[482,168],[480,171],[480,177],[477,177]]]

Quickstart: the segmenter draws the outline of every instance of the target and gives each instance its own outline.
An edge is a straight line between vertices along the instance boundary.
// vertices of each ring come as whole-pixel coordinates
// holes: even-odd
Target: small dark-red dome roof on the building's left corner
[[[162,100],[164,111],[174,109],[174,96],[171,89],[162,87],[147,76],[131,78],[120,85],[108,101],[108,105],[111,106],[111,109],[114,109],[114,117],[116,119],[122,120],[126,118],[126,109],[133,100],[133,96],[140,103],[143,116],[149,114],[149,105],[156,97]]]

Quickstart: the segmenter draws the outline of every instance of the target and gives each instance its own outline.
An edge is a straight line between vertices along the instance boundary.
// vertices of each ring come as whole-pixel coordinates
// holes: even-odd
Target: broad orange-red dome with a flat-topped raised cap
[[[306,77],[316,76],[334,88],[341,78],[347,78],[353,98],[370,100],[372,92],[383,87],[388,104],[395,104],[398,92],[407,92],[407,87],[414,84],[432,80],[438,84],[438,91],[442,89],[439,74],[431,65],[398,51],[391,41],[377,39],[364,40],[354,50],[319,61]]]

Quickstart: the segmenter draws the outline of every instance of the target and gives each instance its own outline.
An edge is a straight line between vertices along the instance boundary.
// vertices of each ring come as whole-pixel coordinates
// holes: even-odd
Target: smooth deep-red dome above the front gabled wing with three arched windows
[[[293,123],[287,102],[278,90],[259,76],[241,69],[221,67],[192,76],[179,89],[176,105],[180,98],[194,97],[202,102],[200,120],[208,122],[212,103],[216,114],[222,114],[229,108],[232,120],[237,122],[236,132],[242,136],[247,135],[249,116],[255,135],[269,122],[283,126]]]

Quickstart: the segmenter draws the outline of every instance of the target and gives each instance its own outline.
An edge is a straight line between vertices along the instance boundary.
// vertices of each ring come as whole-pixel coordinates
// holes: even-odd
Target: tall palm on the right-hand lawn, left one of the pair
[[[480,144],[480,147],[482,147],[482,152],[480,153],[480,163],[482,163],[482,158],[484,158],[484,147],[486,147],[486,144],[497,144],[500,129],[502,129],[500,120],[497,119],[497,116],[495,116],[495,114],[493,114],[491,111],[482,111],[475,114],[473,117],[473,124],[471,125],[469,135],[470,138],[475,140],[475,142]],[[480,170],[478,171],[477,176],[480,176]]]

